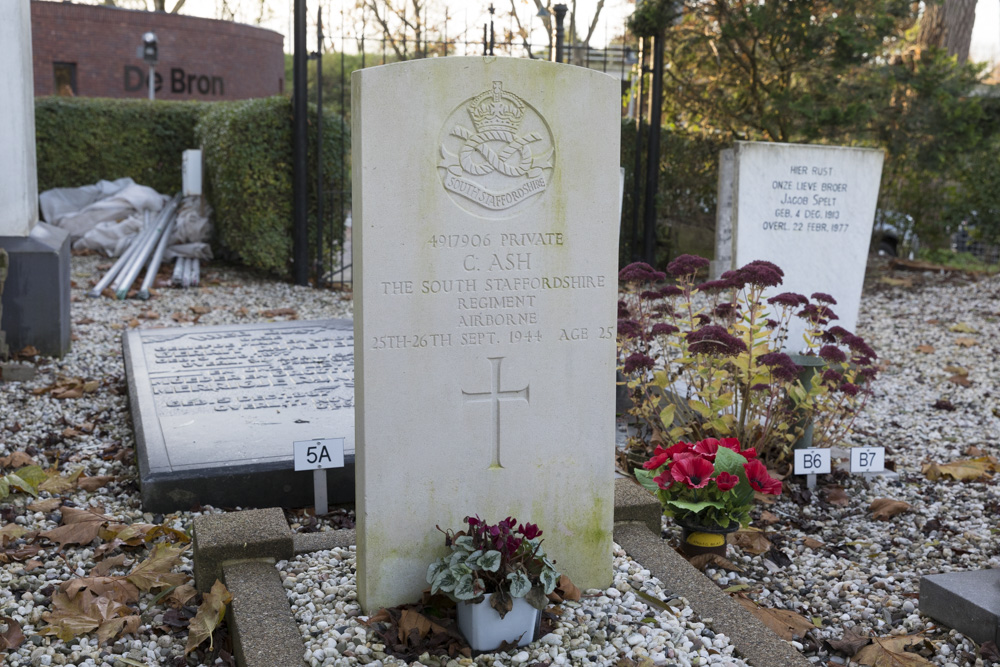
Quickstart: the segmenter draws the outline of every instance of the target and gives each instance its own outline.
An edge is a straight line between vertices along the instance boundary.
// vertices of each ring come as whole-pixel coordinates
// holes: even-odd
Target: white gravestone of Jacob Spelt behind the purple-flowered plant
[[[829,294],[840,317],[834,323],[853,333],[882,160],[870,148],[737,142],[731,268],[758,259],[777,264],[784,283],[769,294]],[[792,322],[789,350],[804,345],[800,322]]]

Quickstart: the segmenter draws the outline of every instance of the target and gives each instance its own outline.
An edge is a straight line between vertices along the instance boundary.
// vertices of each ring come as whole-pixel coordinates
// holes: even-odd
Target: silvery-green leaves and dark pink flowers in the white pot
[[[465,522],[467,530],[442,531],[451,551],[427,568],[431,594],[441,592],[455,602],[469,603],[482,602],[491,594],[490,606],[500,618],[511,610],[514,598],[544,609],[560,575],[542,549],[538,526],[518,524],[512,517],[496,525],[478,516],[466,517]]]

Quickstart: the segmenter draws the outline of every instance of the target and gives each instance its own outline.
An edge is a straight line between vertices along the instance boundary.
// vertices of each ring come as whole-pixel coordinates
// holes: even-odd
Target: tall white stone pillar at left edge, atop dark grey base
[[[28,236],[38,222],[28,0],[0,2],[0,147],[0,236]]]

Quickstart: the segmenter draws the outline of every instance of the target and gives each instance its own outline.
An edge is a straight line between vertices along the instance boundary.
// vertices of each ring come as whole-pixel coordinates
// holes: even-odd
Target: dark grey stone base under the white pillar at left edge
[[[12,350],[31,345],[49,357],[69,352],[69,234],[40,222],[30,236],[0,236],[10,267],[0,329]]]

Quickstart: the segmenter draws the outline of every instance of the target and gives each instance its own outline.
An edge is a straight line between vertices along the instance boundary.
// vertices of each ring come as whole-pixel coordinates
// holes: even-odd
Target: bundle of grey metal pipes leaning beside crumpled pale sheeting
[[[137,296],[140,299],[149,298],[149,288],[153,284],[157,271],[160,270],[160,263],[163,261],[163,252],[167,247],[170,234],[173,232],[174,224],[177,221],[177,209],[181,203],[181,195],[178,193],[170,202],[160,209],[153,222],[149,221],[149,213],[146,212],[145,225],[139,234],[129,244],[128,249],[122,253],[118,261],[101,278],[93,289],[87,292],[88,296],[98,297],[101,292],[111,285],[115,292],[115,297],[124,299],[128,296],[132,284],[139,276],[142,267],[149,262],[146,270],[146,278],[142,282],[142,287]]]

